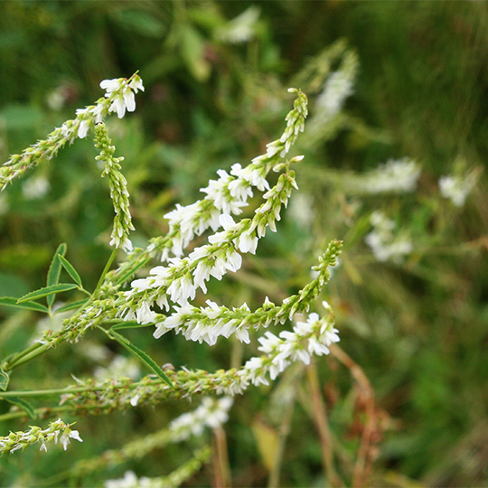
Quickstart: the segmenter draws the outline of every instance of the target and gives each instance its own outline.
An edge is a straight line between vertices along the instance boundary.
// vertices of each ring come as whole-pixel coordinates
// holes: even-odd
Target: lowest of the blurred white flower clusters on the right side
[[[411,239],[405,232],[395,233],[395,222],[391,221],[382,211],[373,211],[370,221],[373,230],[364,240],[379,261],[399,263],[412,252]]]

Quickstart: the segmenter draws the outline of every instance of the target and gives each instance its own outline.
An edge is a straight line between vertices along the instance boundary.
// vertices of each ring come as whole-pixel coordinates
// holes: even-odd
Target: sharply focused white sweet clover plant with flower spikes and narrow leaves
[[[99,381],[76,379],[75,384],[66,388],[49,390],[50,395],[59,395],[60,402],[58,407],[51,408],[51,412],[59,410],[71,415],[83,411],[101,413],[117,408],[151,405],[164,399],[225,395],[218,400],[204,397],[201,407],[175,419],[157,441],[153,438],[153,444],[149,437],[141,441],[145,446],[160,446],[162,443],[183,440],[190,435],[199,435],[203,427],[221,425],[227,419],[231,397],[244,392],[251,385],[267,385],[295,361],[308,364],[312,356],[329,353],[331,344],[339,341],[333,312],[326,302],[323,302],[323,315],[308,314],[308,311],[327,283],[330,267],[337,264],[342,243],[333,240],[324,255],[318,258],[314,279],[281,304],[275,305],[266,299],[254,311],[245,303],[229,308],[211,299],[207,300],[206,306],[192,305],[197,293],[207,293],[209,280],[221,280],[228,271],[237,272],[241,267],[242,255],[256,252],[258,240],[265,236],[267,229],[277,230],[281,211],[286,207],[293,190],[297,189],[295,172],[291,166],[301,161],[303,156],[288,159],[287,155],[299,133],[304,130],[307,116],[305,94],[299,89],[288,90],[296,96],[294,108],[286,117],[285,132],[267,145],[266,154],[259,155],[245,167],[234,164],[230,173],[218,171],[219,178],[211,180],[202,189],[205,194],[202,200],[185,207],[176,205],[174,211],[166,215],[169,221],[166,235],[151,239],[146,249],[133,249],[129,239],[129,232],[134,226],[129,211],[127,181],[120,171],[123,158],[115,157],[116,149],[108,137],[104,120],[112,112],[123,117],[126,110],[133,111],[136,108],[135,94],[138,90],[144,90],[144,86],[135,74],[128,80],[102,81],[100,87],[106,90],[104,98],[93,106],[77,110],[76,118],[56,128],[46,140],[32,145],[20,155],[13,155],[0,168],[0,187],[5,188],[42,159],[51,159],[66,143],[72,144],[76,138],[84,138],[89,131],[93,131],[95,145],[100,151],[97,159],[105,164],[102,176],[108,177],[110,197],[116,214],[110,240],[114,250],[93,292],[82,286],[80,275],[64,257],[66,246],[61,244],[52,259],[47,286],[20,299],[0,299],[3,305],[42,311],[50,317],[74,311],[63,321],[59,330],[44,331],[26,350],[1,363],[0,398],[10,400],[17,406],[16,412],[8,414],[9,418],[24,417],[25,413],[40,417],[41,409],[30,408],[26,401],[19,402],[19,399],[36,393],[42,396],[47,393],[46,390],[31,391],[27,395],[21,391],[8,391],[12,371],[60,343],[78,342],[90,329],[98,328],[142,361],[151,374],[137,381],[124,377]],[[279,173],[274,186],[267,182],[267,174],[271,170]],[[257,190],[263,192],[263,202],[252,217],[236,218]],[[192,240],[207,230],[211,231],[206,243],[188,253]],[[126,251],[127,258],[115,269],[109,270],[116,258],[117,249]],[[140,273],[155,258],[160,259],[161,264],[151,267],[145,277],[134,279],[136,273]],[[61,267],[68,272],[73,283],[59,283]],[[56,293],[75,288],[85,293],[87,298],[53,307]],[[43,305],[44,299],[47,305]],[[293,323],[291,330],[278,334],[267,331],[258,337],[261,355],[252,357],[240,368],[215,372],[186,369],[174,371],[170,367],[163,370],[120,333],[129,327],[154,325],[155,339],[165,333],[177,333],[182,334],[186,340],[212,345],[221,336],[229,338],[234,335],[240,342],[249,343],[252,333],[286,323]],[[81,440],[77,431],[70,430],[70,424],[58,420],[44,430],[31,427],[31,430],[23,433],[0,437],[1,454],[36,443],[40,443],[44,449],[47,442],[56,441],[58,436],[64,447],[70,438]],[[140,446],[138,451],[141,451]],[[193,468],[197,469],[199,463],[202,464],[207,458],[206,451],[196,455],[186,471],[190,473]],[[80,467],[80,470],[85,469],[88,469],[87,465]],[[180,474],[175,474],[174,479],[179,479]],[[127,476],[130,478],[132,475]]]

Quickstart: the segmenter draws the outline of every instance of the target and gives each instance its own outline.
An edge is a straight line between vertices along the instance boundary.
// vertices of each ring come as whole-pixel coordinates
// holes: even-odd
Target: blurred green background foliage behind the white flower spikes
[[[167,230],[164,213],[176,202],[201,198],[199,189],[217,169],[263,153],[291,108],[286,89],[303,89],[311,102],[310,133],[306,126],[296,148],[305,160],[296,166],[295,204],[277,235],[267,236],[242,272],[211,293],[228,306],[246,301],[257,307],[266,295],[278,301],[305,285],[328,239],[343,239],[342,263],[324,297],[349,359],[317,361],[337,475],[342,483],[357,483],[354,470],[362,459],[368,485],[486,483],[488,4],[5,0],[0,66],[3,161],[98,99],[101,80],[139,70],[145,92],[136,96],[136,112],[113,117],[108,129],[116,155],[125,156],[132,238],[141,247]],[[313,127],[317,96],[341,69],[353,80],[343,111]],[[44,286],[60,242],[68,244],[67,257],[85,286],[96,285],[110,253],[112,210],[95,155],[89,137],[78,140],[2,192],[0,296]],[[420,168],[415,192],[360,191],[352,184],[404,157]],[[473,172],[476,184],[464,205],[442,197],[441,176]],[[373,211],[383,211],[411,239],[413,249],[397,262],[378,261],[365,243]],[[35,313],[2,308],[0,314],[4,357],[42,330]],[[213,371],[257,352],[256,343],[242,351],[235,343],[210,348],[170,335],[157,343],[150,333],[130,338],[176,368]],[[66,345],[24,366],[11,388],[67,384],[71,373],[89,375],[94,364],[107,366],[120,352],[106,344],[97,356],[89,349],[104,339],[91,333],[87,341],[81,344],[85,355],[76,344]],[[289,404],[281,485],[333,483],[321,465],[311,392],[294,374],[304,372],[236,399],[226,426],[234,486],[266,485],[267,454]],[[290,389],[296,403],[286,394]],[[37,485],[74,459],[121,446],[189,408],[170,402],[81,418],[82,445],[68,454],[31,448],[5,457],[0,483]],[[367,428],[372,434],[364,444]],[[2,435],[8,429],[23,424],[4,422]],[[189,450],[156,450],[77,483],[92,486],[129,468],[166,474]],[[207,486],[211,479],[208,468],[187,485]]]

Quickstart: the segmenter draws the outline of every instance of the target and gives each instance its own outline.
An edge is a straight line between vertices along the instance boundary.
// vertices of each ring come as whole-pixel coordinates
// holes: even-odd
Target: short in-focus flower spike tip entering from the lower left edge
[[[66,450],[70,444],[70,439],[83,442],[78,430],[71,430],[73,424],[65,424],[61,418],[49,424],[49,427],[42,430],[41,427],[31,427],[23,432],[11,432],[8,436],[0,437],[0,455],[14,453],[19,449],[24,450],[27,446],[41,444],[41,450],[47,451],[47,444],[54,442],[60,444]]]

